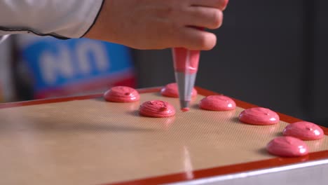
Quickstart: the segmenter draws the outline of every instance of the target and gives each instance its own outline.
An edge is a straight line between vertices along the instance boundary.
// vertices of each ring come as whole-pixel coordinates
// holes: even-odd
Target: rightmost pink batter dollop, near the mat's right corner
[[[302,140],[316,140],[324,137],[322,128],[315,125],[315,123],[310,123],[307,121],[299,121],[287,125],[287,127],[282,131],[282,134],[285,136],[297,137]]]

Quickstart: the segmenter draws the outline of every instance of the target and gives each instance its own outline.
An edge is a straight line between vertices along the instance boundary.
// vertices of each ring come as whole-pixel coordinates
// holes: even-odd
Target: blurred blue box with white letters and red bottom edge
[[[125,46],[48,36],[23,36],[19,43],[35,98],[91,93],[114,85],[135,87],[132,56]]]

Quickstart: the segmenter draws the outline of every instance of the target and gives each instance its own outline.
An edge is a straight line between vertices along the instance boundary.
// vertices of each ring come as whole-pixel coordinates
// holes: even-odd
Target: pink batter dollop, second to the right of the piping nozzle
[[[252,125],[273,125],[280,121],[277,113],[263,107],[245,109],[239,115],[239,121]]]

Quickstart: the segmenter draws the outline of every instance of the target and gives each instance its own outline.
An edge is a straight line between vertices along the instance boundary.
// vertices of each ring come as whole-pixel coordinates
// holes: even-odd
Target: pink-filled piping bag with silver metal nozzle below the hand
[[[188,111],[191,92],[193,85],[195,85],[200,51],[173,48],[172,55],[175,67],[175,81],[177,81],[179,90],[180,107],[182,111]]]

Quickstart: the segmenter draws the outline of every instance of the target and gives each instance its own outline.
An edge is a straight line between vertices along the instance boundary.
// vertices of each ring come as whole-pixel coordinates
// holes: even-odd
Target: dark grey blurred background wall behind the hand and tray
[[[328,126],[327,1],[230,1],[196,85]],[[134,51],[139,88],[174,81],[170,50]]]

